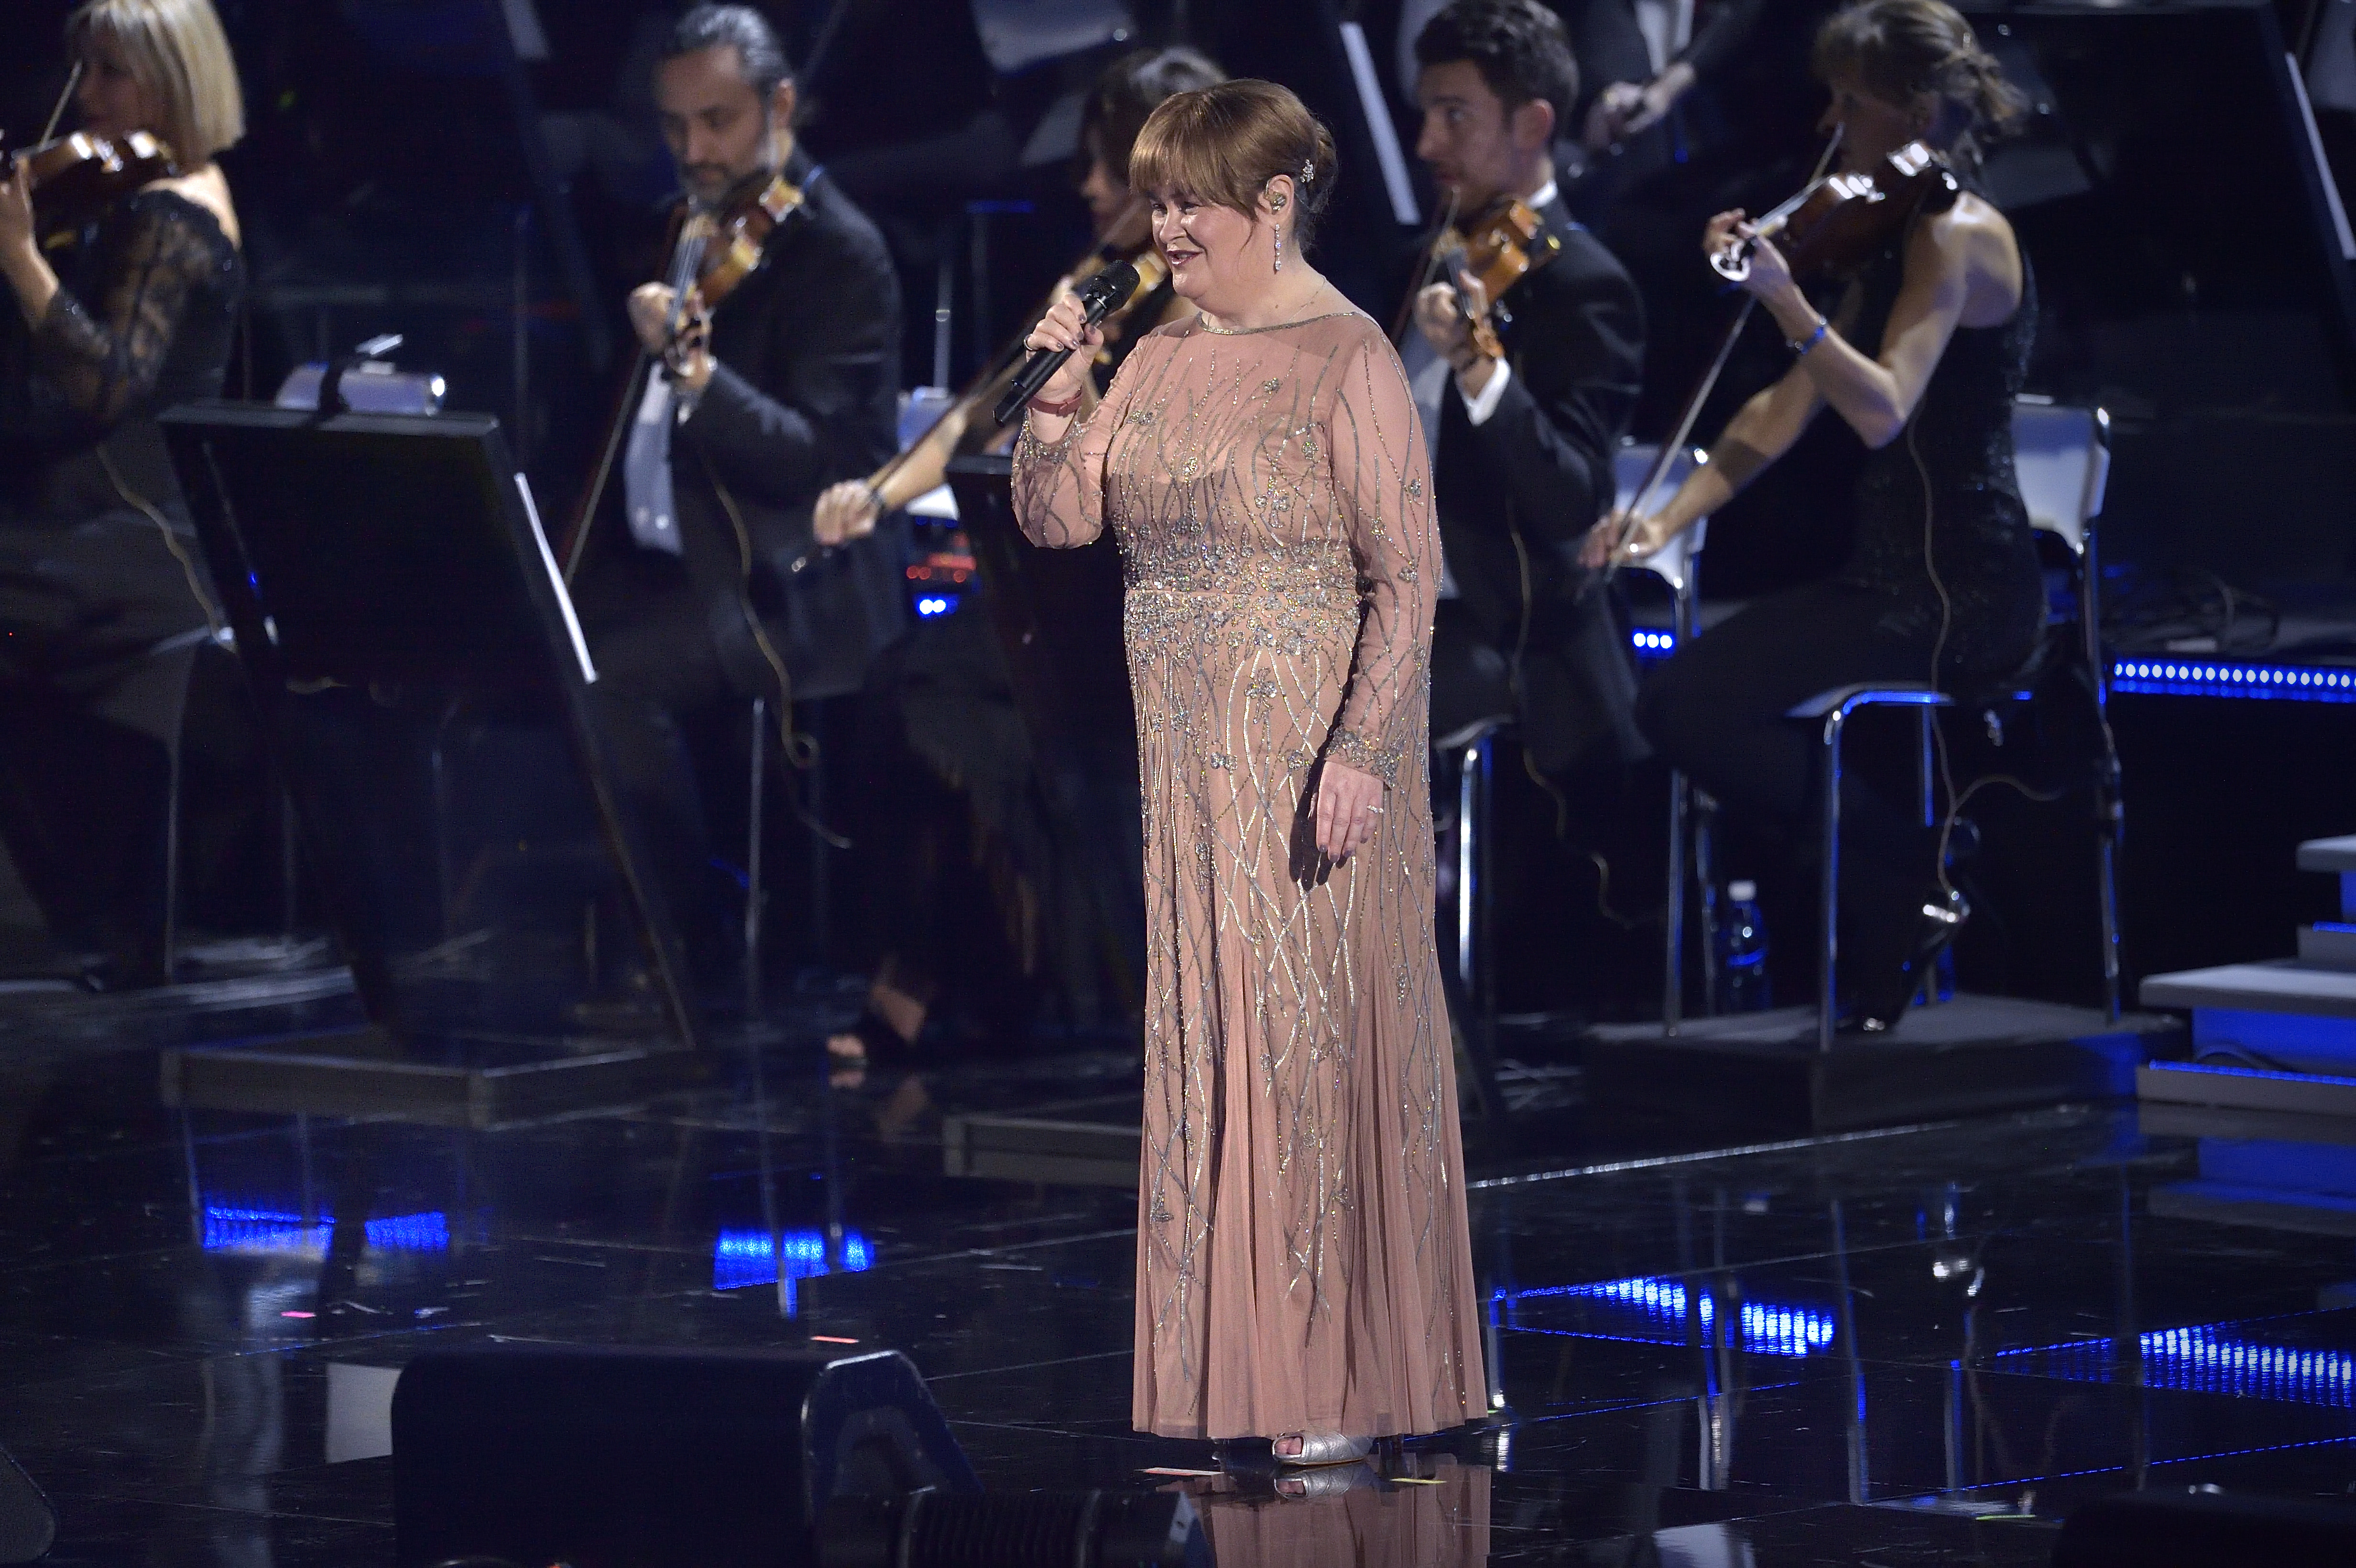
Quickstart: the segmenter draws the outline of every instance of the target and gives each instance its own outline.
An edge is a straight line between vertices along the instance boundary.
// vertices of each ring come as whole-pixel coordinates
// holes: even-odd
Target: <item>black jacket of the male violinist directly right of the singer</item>
[[[1513,365],[1480,426],[1456,379],[1440,403],[1432,490],[1449,574],[1475,636],[1513,664],[1522,744],[1548,775],[1642,756],[1635,659],[1609,593],[1579,598],[1579,544],[1612,509],[1612,457],[1635,410],[1644,308],[1635,283],[1562,200],[1562,252],[1505,292]]]

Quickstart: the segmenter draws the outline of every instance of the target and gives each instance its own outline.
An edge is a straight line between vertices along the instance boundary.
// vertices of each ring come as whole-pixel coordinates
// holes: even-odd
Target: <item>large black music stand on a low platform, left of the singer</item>
[[[700,1017],[591,723],[587,640],[499,421],[193,403],[163,426],[370,1019],[363,1034],[172,1052],[167,1099],[490,1125],[693,1076]],[[669,1038],[568,1034],[523,963],[476,965],[452,1003],[448,892],[431,921],[405,916],[398,892],[426,843],[445,843],[438,737],[459,711],[521,711],[563,735],[549,793],[575,810],[530,810],[596,841],[575,862],[601,862],[591,871],[634,916]],[[436,737],[426,763],[419,737]],[[438,864],[448,881],[448,855]],[[516,998],[542,1015],[504,1017]]]

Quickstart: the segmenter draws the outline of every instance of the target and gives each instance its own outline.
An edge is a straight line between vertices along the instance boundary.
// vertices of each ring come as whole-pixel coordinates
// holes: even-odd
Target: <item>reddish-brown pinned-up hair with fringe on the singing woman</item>
[[[1162,99],[1129,148],[1129,188],[1183,193],[1253,217],[1277,174],[1293,179],[1293,245],[1308,250],[1333,200],[1333,134],[1291,87],[1242,78]]]

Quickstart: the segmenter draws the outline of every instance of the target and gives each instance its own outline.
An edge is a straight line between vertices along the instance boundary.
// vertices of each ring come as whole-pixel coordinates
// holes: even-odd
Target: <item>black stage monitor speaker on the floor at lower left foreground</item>
[[[815,1561],[834,1497],[975,1493],[898,1351],[434,1351],[393,1389],[403,1568]]]

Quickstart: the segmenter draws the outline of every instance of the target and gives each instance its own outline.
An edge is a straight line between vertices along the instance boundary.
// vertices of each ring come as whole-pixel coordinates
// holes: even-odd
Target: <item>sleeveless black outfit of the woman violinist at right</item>
[[[1904,240],[1857,280],[1847,341],[1878,353],[1904,283]],[[2036,337],[2036,278],[1996,327],[1958,327],[1890,445],[1864,452],[1849,560],[1826,582],[1762,598],[1647,680],[1637,725],[1720,803],[1807,841],[1819,819],[1819,737],[1786,713],[1857,680],[2003,680],[2045,617],[2029,513],[2012,469],[2012,398]],[[1925,518],[1925,506],[1930,516]],[[1913,812],[1845,775],[1842,866],[1890,881],[1920,852]]]

